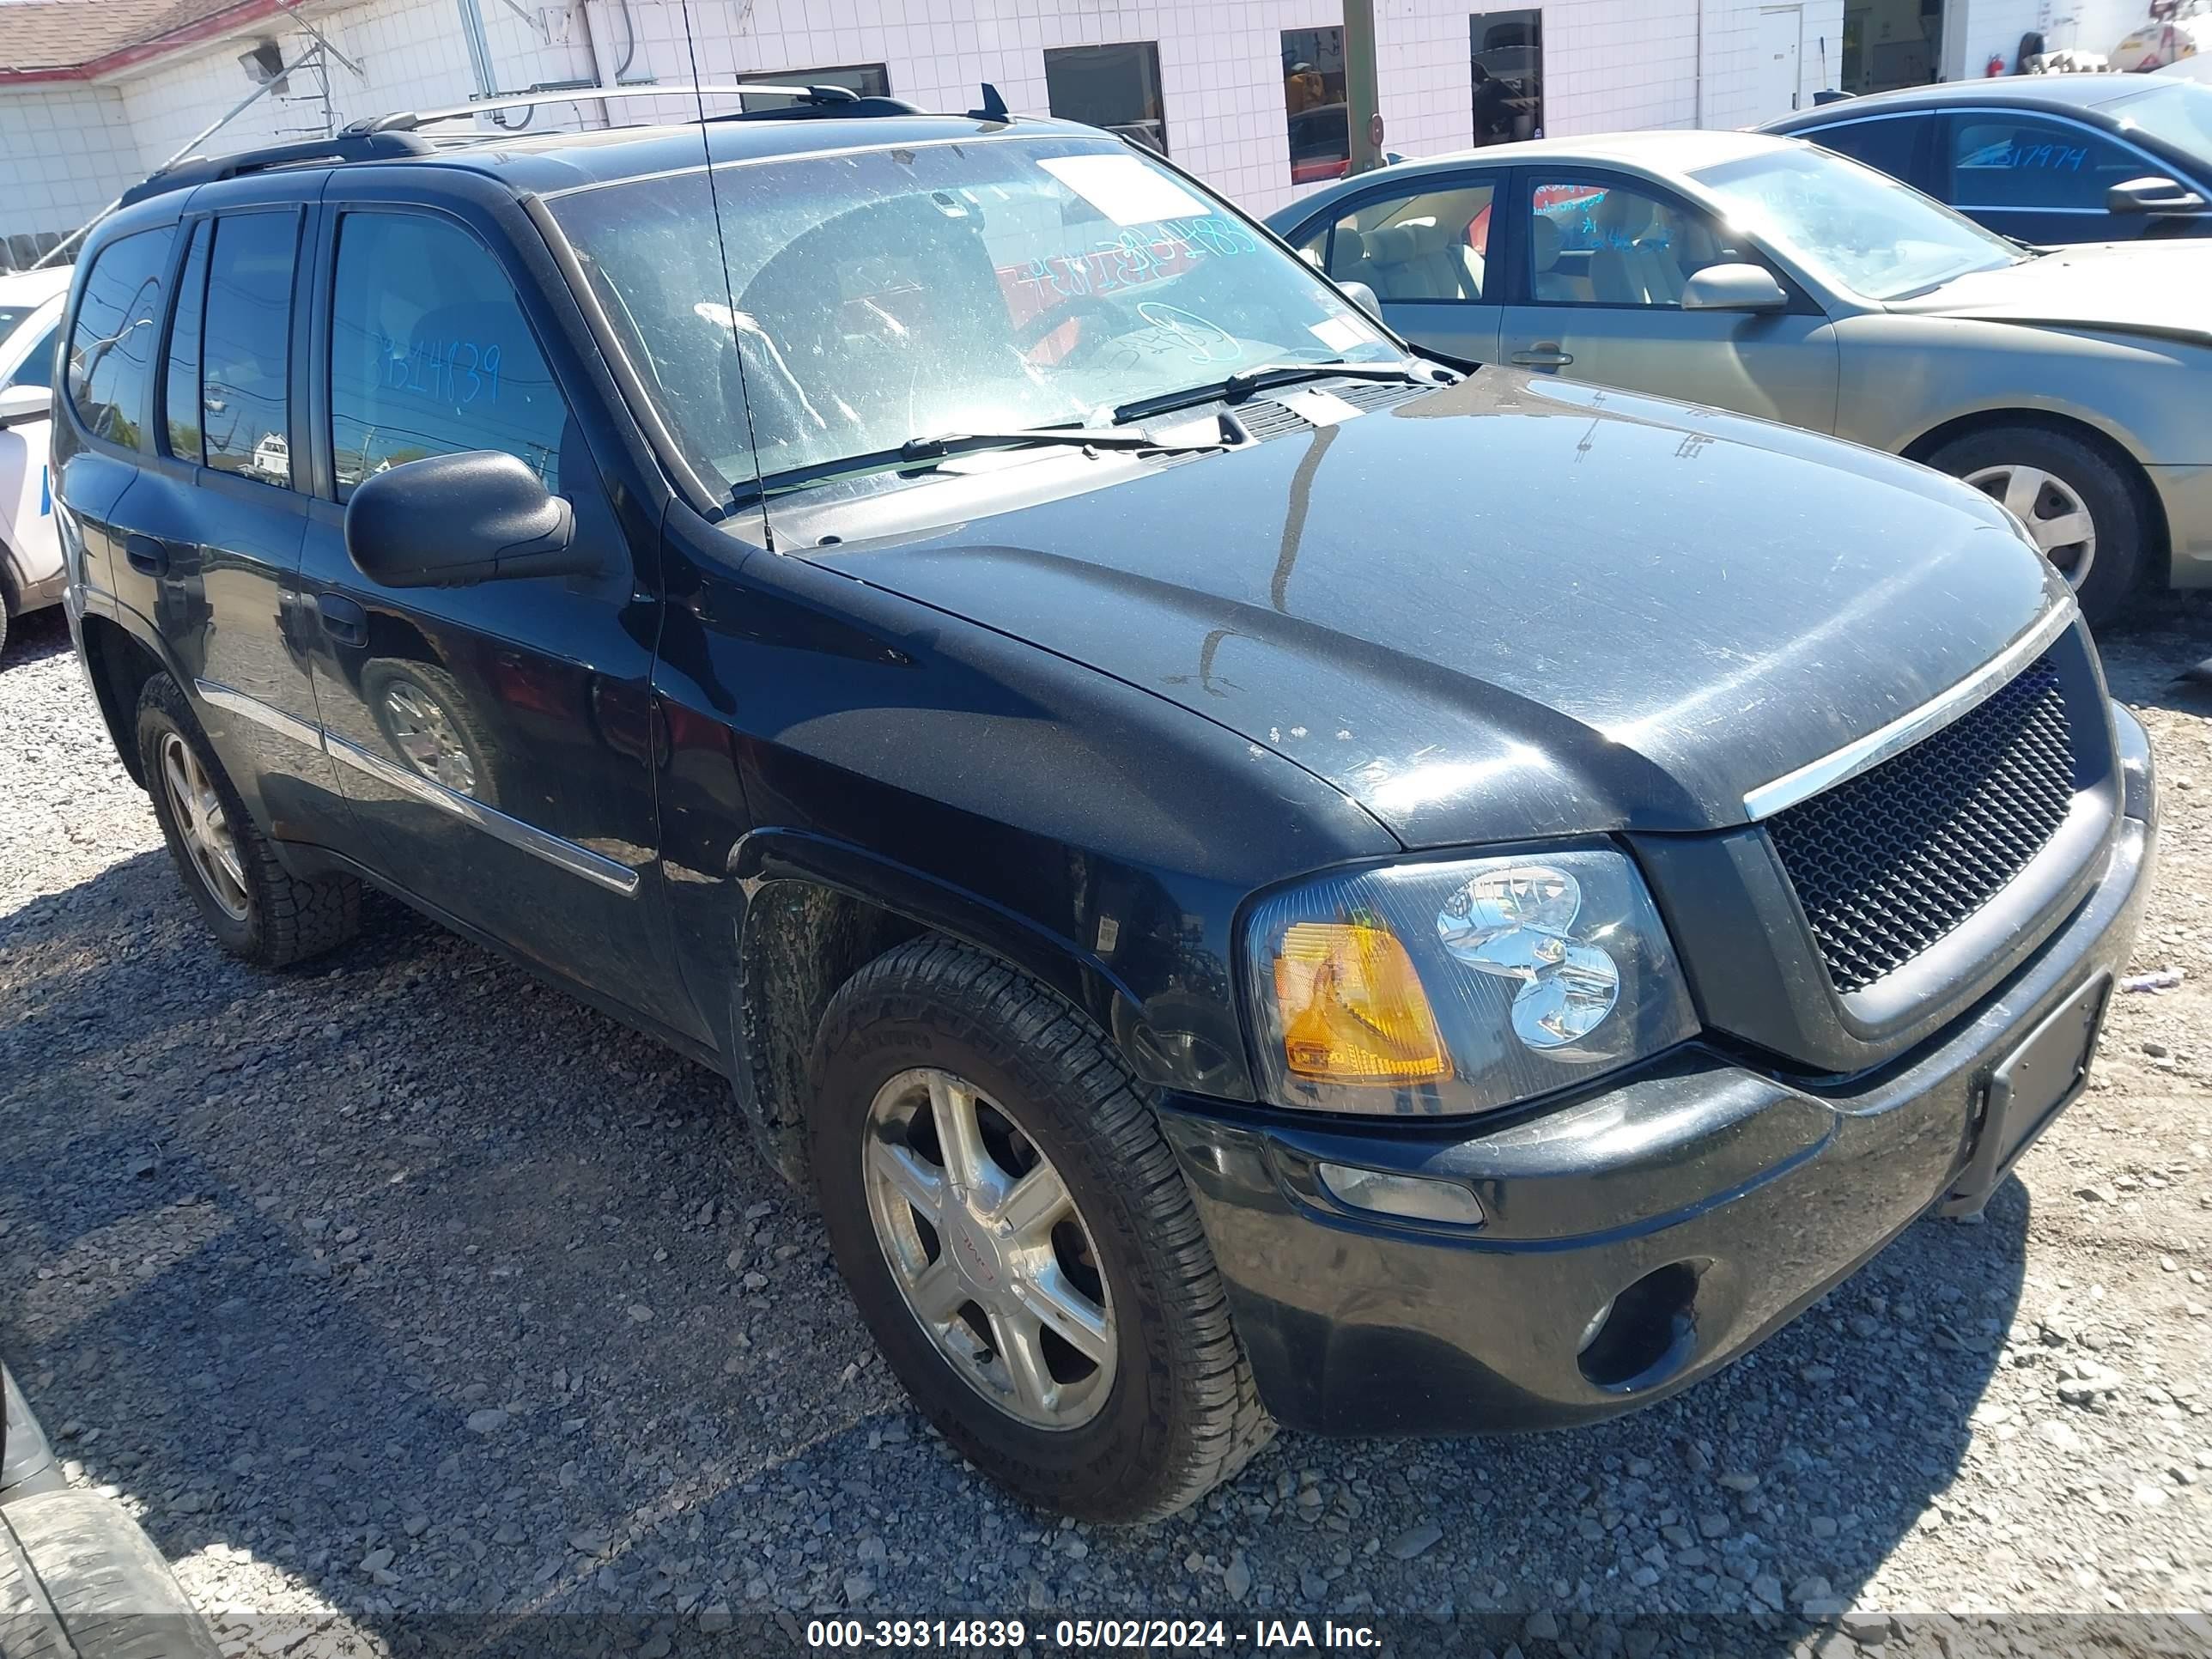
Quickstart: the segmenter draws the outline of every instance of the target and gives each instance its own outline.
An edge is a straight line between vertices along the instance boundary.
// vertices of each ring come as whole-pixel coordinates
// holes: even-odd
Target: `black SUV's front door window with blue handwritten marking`
[[[560,489],[568,409],[513,285],[460,226],[354,212],[338,226],[330,445],[338,500],[425,456],[502,449]]]

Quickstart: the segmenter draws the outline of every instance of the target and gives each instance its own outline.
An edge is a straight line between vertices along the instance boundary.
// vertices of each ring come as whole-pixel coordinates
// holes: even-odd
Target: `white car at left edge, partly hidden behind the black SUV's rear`
[[[11,617],[62,599],[46,436],[69,265],[0,276],[0,650]]]

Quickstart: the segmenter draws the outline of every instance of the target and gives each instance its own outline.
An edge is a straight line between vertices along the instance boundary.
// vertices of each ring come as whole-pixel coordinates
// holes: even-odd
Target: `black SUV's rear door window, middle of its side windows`
[[[299,215],[215,221],[201,325],[201,431],[208,467],[292,484],[292,263]]]

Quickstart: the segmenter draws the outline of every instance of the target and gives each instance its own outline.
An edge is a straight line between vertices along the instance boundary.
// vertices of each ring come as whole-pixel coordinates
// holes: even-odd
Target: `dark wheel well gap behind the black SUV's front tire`
[[[812,880],[772,880],[745,905],[739,947],[739,1106],[787,1181],[805,1181],[814,1033],[838,989],[894,945],[927,933],[909,916]]]

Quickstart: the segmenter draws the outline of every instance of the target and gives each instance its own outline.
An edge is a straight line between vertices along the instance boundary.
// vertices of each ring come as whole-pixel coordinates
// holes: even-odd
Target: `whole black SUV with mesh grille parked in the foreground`
[[[2075,1097],[2150,754],[1980,491],[1062,122],[429,124],[93,232],[115,745],[246,960],[369,880],[726,1073],[1015,1491],[1659,1398]]]

